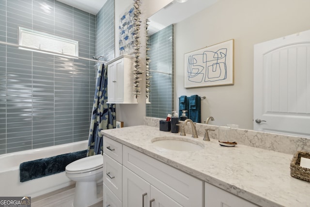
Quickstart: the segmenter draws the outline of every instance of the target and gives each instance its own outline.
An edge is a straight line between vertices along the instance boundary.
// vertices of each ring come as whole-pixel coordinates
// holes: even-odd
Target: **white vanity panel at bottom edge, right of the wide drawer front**
[[[204,188],[205,207],[259,207],[207,182]]]

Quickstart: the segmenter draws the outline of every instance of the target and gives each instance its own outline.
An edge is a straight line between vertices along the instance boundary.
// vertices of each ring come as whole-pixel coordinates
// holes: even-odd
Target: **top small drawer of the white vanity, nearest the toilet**
[[[115,142],[114,140],[104,136],[103,152],[119,163],[123,163],[123,144]]]

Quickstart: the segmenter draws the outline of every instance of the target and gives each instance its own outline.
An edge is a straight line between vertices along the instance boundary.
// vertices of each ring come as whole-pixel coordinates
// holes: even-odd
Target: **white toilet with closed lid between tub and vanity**
[[[93,155],[68,164],[66,176],[76,181],[74,207],[88,207],[102,199],[97,198],[97,183],[103,179],[102,155]]]

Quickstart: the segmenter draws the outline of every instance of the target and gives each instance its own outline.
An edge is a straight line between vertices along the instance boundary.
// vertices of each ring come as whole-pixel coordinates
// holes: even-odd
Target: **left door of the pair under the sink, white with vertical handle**
[[[123,166],[123,207],[148,207],[150,184]]]

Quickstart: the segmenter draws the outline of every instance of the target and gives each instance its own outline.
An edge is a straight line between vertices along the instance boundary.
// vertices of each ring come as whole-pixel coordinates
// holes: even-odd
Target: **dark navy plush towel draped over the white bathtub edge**
[[[20,182],[65,171],[71,162],[85,158],[87,150],[23,162],[19,165]]]

